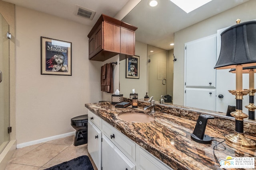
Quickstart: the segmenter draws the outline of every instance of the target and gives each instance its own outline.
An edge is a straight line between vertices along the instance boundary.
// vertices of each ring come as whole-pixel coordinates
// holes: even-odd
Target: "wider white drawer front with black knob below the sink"
[[[126,137],[105,121],[102,121],[102,131],[108,137],[108,139],[110,139],[110,141],[112,141],[122,152],[124,152],[124,154],[126,154],[126,156],[132,160],[135,160],[136,144],[134,141]]]

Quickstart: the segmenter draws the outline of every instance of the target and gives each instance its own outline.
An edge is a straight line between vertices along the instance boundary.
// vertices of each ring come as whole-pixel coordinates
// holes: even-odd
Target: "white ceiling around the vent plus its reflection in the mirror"
[[[101,14],[114,17],[128,1],[139,0],[4,0],[44,12],[54,16],[93,26]],[[142,0],[122,21],[138,27],[136,40],[160,47],[172,49],[174,32],[233,8],[248,0],[212,0],[208,4],[186,13],[170,0],[157,0],[156,7],[148,6],[149,0]],[[129,4],[129,2],[128,2]],[[74,15],[75,6],[95,11],[93,20]],[[127,12],[128,13],[128,12]]]

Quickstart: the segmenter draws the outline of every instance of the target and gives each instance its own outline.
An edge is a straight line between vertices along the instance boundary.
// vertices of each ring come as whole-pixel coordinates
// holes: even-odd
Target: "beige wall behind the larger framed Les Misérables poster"
[[[88,60],[91,27],[16,6],[17,144],[74,131],[70,119],[102,100],[100,66]],[[41,75],[40,37],[72,42],[72,76]]]

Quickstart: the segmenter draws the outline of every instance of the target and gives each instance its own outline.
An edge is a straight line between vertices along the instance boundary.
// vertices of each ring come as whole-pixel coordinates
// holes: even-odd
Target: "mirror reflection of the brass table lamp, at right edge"
[[[232,68],[229,72],[236,73],[236,69]],[[256,90],[254,89],[254,73],[256,72],[256,66],[251,67],[243,67],[242,73],[249,74],[249,105],[245,107],[248,109],[248,119],[255,120],[255,109],[256,106],[254,105],[254,95]]]

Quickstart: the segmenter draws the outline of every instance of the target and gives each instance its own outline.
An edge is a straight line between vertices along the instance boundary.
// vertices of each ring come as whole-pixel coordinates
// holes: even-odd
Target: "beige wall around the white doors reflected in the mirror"
[[[213,35],[218,29],[235,25],[238,18],[242,22],[256,19],[255,7],[256,0],[250,0],[174,34],[174,55],[177,61],[174,63],[173,104],[184,105],[184,43]]]

